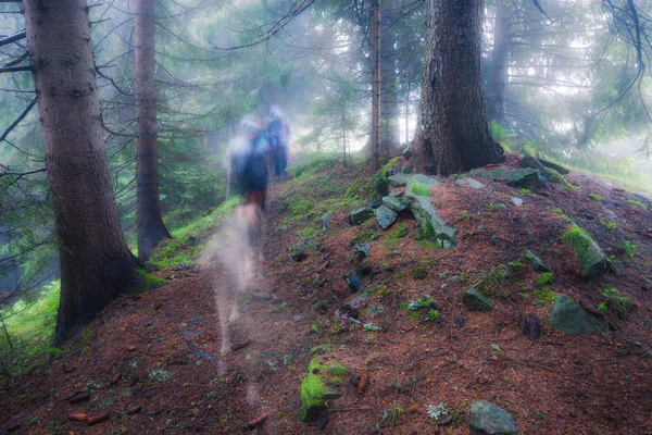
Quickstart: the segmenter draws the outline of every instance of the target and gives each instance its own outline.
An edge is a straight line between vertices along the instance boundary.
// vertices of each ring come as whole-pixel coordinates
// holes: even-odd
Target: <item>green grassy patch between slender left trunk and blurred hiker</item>
[[[161,241],[149,262],[158,269],[191,264],[203,250],[211,232],[225,221],[239,202],[239,198],[231,198],[223,202],[211,214],[196,219],[184,227],[173,229],[171,232],[173,238]]]

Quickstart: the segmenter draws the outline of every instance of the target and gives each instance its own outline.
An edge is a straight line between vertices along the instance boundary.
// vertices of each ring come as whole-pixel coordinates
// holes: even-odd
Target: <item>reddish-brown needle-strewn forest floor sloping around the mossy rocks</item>
[[[511,156],[503,166],[517,164]],[[234,294],[243,265],[217,233],[198,265],[155,272],[170,284],[116,300],[61,355],[4,381],[0,433],[468,434],[476,399],[515,415],[522,434],[652,433],[652,211],[628,202],[642,198],[582,174],[567,176],[576,189],[538,192],[442,178],[432,203],[460,233],[455,248],[435,249],[415,239],[413,219],[385,231],[349,224],[349,211],[368,203],[373,176],[363,173],[316,164],[275,184],[264,262],[246,291]],[[578,276],[560,209],[616,261],[601,283]],[[361,259],[352,245],[364,241]],[[537,284],[525,249],[550,266],[552,284]],[[308,257],[294,261],[298,250]],[[358,294],[342,278],[349,270],[362,276]],[[494,309],[468,311],[464,293],[489,281]],[[625,311],[607,285],[629,298]],[[606,332],[552,328],[555,294],[609,307],[597,318]],[[419,298],[439,315],[405,309]],[[228,322],[234,301],[239,318]],[[338,320],[338,309],[361,324]],[[541,320],[538,339],[523,333],[529,313]],[[303,423],[301,383],[319,345],[351,375]],[[426,412],[439,403],[447,425]]]

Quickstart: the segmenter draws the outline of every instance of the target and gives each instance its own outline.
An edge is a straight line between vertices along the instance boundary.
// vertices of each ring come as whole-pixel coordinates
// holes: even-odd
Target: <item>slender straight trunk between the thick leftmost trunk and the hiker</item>
[[[136,231],[140,260],[147,260],[159,241],[171,237],[163,224],[159,201],[154,3],[154,0],[136,2]]]

